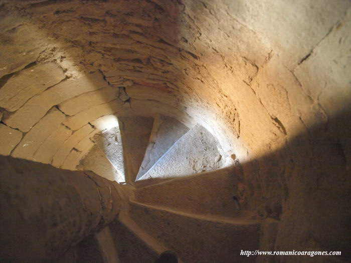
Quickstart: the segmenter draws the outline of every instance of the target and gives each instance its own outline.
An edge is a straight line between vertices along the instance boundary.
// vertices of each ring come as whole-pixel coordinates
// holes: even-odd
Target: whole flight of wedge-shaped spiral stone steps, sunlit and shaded
[[[165,250],[182,262],[255,261],[240,252],[258,248],[260,222],[242,207],[215,137],[165,116],[118,123],[92,138],[79,165],[117,180],[124,195],[119,217],[96,235],[102,262],[154,262]]]

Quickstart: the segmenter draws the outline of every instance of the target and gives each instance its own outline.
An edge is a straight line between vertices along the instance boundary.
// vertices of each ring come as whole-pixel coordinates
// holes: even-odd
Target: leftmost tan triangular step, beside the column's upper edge
[[[96,174],[117,182],[124,182],[122,176],[95,144],[77,167],[79,170],[90,170]]]

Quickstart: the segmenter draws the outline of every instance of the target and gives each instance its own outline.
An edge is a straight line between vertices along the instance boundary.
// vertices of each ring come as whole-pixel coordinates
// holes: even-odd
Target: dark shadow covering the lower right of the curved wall
[[[275,242],[261,239],[262,249],[341,251],[350,259],[350,123],[348,110],[327,126],[316,125],[286,147],[238,167],[248,186],[239,188],[242,208],[279,221]],[[286,256],[281,260],[296,262]]]

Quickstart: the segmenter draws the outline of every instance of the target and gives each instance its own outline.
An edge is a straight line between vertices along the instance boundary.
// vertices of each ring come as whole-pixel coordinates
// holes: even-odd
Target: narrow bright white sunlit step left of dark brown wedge
[[[118,182],[125,181],[123,145],[119,127],[113,127],[96,134],[93,137],[94,142],[111,162],[114,169],[120,174]]]

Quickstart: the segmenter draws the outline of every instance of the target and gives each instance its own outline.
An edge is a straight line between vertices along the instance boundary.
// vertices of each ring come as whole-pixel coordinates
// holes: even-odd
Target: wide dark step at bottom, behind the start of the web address
[[[240,252],[258,249],[259,221],[205,217],[137,202],[130,202],[130,217],[185,262],[255,261]]]

